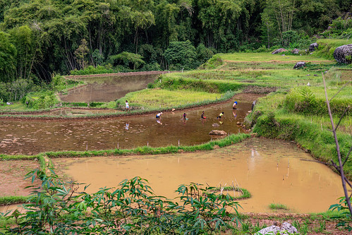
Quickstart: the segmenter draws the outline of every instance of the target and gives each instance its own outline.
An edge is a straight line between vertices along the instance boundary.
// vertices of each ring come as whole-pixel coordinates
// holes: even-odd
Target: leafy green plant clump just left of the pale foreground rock
[[[219,229],[230,228],[233,222],[238,225],[238,202],[230,195],[208,193],[212,189],[202,188],[198,183],[177,189],[181,203],[171,203],[169,207],[177,208],[181,234],[214,234]]]

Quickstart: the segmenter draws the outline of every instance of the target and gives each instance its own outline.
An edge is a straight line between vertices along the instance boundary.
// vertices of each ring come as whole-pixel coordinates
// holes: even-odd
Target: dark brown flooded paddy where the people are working
[[[209,135],[212,130],[222,130],[228,134],[243,132],[236,123],[243,122],[252,103],[239,100],[236,111],[233,111],[232,104],[230,101],[209,107],[165,112],[161,120],[156,119],[155,114],[58,121],[0,119],[0,154],[34,155],[61,150],[205,143],[217,138]],[[202,111],[207,116],[205,120],[200,119]],[[186,112],[188,120],[182,119],[183,112]],[[217,119],[220,112],[224,112],[221,120]]]

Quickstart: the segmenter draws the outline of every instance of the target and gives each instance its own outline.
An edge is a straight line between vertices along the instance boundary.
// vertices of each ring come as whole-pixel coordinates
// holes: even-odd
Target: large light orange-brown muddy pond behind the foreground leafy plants
[[[54,164],[74,180],[90,183],[90,193],[134,176],[147,179],[154,193],[168,198],[176,196],[182,183],[235,183],[253,195],[239,202],[240,212],[272,212],[270,203],[286,205],[287,212],[324,212],[343,195],[339,176],[323,164],[302,159],[312,157],[293,143],[252,138],[210,152],[54,159]]]

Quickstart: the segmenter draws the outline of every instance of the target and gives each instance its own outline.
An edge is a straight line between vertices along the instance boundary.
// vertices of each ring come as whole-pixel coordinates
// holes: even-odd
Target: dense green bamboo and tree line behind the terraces
[[[40,85],[87,66],[192,69],[217,52],[299,47],[351,7],[344,0],[0,0],[0,82]]]

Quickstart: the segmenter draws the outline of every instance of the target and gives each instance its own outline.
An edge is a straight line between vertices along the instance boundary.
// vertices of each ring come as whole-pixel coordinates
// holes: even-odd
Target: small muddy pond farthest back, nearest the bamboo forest
[[[128,92],[147,88],[159,75],[129,75],[111,77],[76,78],[85,80],[87,85],[69,90],[60,95],[64,102],[109,102],[125,96]]]

